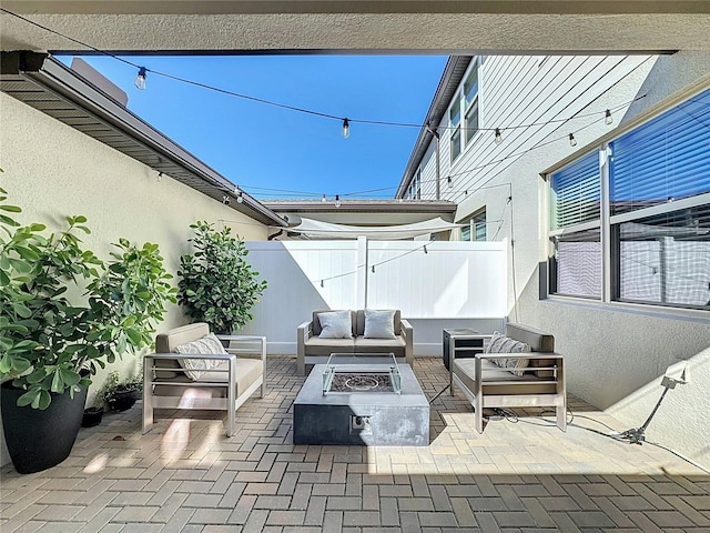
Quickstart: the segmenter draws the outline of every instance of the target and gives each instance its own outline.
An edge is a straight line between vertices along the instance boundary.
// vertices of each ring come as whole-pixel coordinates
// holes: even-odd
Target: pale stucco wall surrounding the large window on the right
[[[639,88],[647,94],[625,120],[652,109],[661,100],[688,87],[710,83],[710,58],[679,52],[660,57]],[[619,89],[619,88],[617,88]],[[530,154],[531,155],[531,154]],[[511,168],[528,174],[542,161],[530,155]],[[530,170],[524,170],[528,167]],[[710,316],[708,312],[622,308],[572,299],[539,298],[538,264],[547,249],[545,187],[539,180],[538,200],[514,193],[516,276],[518,304],[510,319],[550,331],[568,364],[568,390],[613,414],[618,430],[639,428],[651,413],[663,388],[660,380],[670,368],[673,375],[688,365],[690,382],[670,391],[646,433],[649,441],[669,446],[710,466]],[[531,192],[531,189],[527,189]],[[539,222],[538,222],[539,221]],[[537,243],[534,245],[532,243]]]

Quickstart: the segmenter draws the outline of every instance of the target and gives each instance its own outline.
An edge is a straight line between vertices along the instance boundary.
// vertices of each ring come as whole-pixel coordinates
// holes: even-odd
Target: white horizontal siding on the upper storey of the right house
[[[442,199],[460,203],[529,150],[550,141],[555,142],[556,155],[549,164],[559,159],[560,147],[567,147],[569,153],[574,149],[568,145],[567,135],[604,118],[605,110],[596,109],[595,100],[646,59],[646,56],[565,56],[545,61],[537,56],[485,58],[479,69],[479,124],[486,129],[500,128],[504,141],[495,144],[493,131],[480,131],[450,164],[445,118],[440,124],[440,172],[443,183],[447,175],[453,177],[454,187],[450,190],[442,187]],[[588,113],[600,114],[562,122],[562,119]],[[519,124],[535,125],[506,129]],[[576,137],[580,145],[584,144],[584,132]]]

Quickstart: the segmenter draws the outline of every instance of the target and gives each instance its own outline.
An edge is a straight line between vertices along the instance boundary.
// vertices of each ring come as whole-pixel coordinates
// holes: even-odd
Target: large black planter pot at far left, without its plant
[[[44,411],[29,406],[18,408],[23,391],[11,382],[0,386],[2,400],[2,429],[14,469],[31,474],[51,469],[64,461],[77,440],[87,402],[87,389],[74,393],[54,394]]]

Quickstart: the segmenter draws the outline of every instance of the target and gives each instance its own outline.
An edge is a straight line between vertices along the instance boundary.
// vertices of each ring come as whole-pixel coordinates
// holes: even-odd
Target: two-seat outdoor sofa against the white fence
[[[326,313],[324,319],[339,313],[346,316],[345,329],[338,336],[327,336],[324,334],[321,323],[321,315]],[[366,316],[367,314],[367,316]],[[385,325],[388,331],[382,334],[377,331],[372,336],[371,324],[374,318],[389,316]],[[366,319],[369,321],[366,323]],[[326,328],[327,329],[327,328]],[[368,330],[368,331],[366,331]],[[337,333],[336,333],[337,334]],[[298,375],[305,375],[306,364],[325,363],[332,353],[357,353],[357,354],[382,354],[393,353],[398,359],[404,359],[405,363],[414,363],[414,331],[406,320],[402,319],[399,310],[317,310],[313,312],[311,320],[302,323],[297,328],[297,371]]]

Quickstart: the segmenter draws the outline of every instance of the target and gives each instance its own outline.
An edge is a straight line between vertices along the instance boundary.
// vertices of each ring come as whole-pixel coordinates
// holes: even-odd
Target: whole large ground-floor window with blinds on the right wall
[[[596,152],[549,177],[549,292],[710,310],[710,89],[609,149],[609,198]]]

